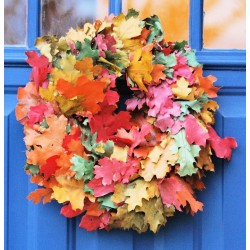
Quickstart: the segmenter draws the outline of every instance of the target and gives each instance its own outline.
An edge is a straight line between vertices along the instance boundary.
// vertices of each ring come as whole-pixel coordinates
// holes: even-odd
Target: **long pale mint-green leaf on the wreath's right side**
[[[197,172],[197,168],[194,167],[196,162],[194,157],[197,157],[200,152],[200,147],[197,145],[190,145],[186,140],[186,133],[184,129],[181,129],[177,134],[172,135],[177,147],[179,158],[177,163],[180,164],[178,174],[180,176],[192,175]],[[176,153],[176,147],[172,148],[171,151]]]

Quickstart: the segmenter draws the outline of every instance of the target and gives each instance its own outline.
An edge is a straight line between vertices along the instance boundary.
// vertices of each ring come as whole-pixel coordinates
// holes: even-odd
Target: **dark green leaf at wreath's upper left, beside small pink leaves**
[[[76,49],[79,50],[79,54],[76,56],[76,60],[82,60],[84,57],[90,57],[93,60],[99,58],[97,49],[91,48],[91,41],[87,38],[84,39],[85,43],[76,42]]]

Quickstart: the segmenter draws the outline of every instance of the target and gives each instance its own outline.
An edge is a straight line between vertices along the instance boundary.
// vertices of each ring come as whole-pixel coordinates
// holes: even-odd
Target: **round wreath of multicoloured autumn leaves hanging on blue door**
[[[219,87],[202,75],[186,41],[166,42],[157,16],[110,15],[43,36],[28,51],[30,82],[18,89],[26,173],[34,203],[63,204],[87,231],[156,233],[195,197],[211,156],[237,147],[213,129]]]

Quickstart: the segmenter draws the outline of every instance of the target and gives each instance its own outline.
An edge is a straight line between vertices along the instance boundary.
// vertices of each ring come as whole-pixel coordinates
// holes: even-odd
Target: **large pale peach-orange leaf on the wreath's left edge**
[[[27,147],[33,146],[33,150],[27,151],[28,163],[43,165],[46,160],[54,155],[60,155],[65,150],[62,147],[63,138],[66,135],[67,118],[63,115],[57,117],[50,115],[46,118],[48,128],[40,128],[36,131],[28,126],[24,127],[26,136],[24,141]]]

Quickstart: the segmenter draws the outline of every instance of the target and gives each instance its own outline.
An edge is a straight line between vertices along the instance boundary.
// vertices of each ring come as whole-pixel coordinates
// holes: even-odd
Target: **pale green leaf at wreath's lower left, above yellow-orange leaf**
[[[86,160],[79,155],[74,155],[70,162],[74,164],[71,170],[76,172],[75,178],[77,180],[84,179],[84,181],[88,181],[94,177],[93,169],[95,162]]]

